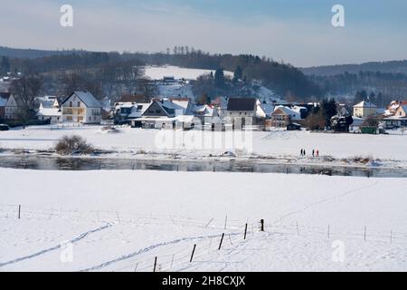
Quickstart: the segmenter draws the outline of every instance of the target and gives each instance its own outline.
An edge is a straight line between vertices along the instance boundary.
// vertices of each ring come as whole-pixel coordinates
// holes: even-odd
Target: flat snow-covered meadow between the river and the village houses
[[[118,128],[116,133],[107,133],[99,126],[62,128],[54,126],[29,127],[26,130],[0,132],[0,149],[49,150],[63,135],[78,134],[102,150],[114,150],[115,156],[159,157],[160,154],[177,154],[180,158],[202,159],[210,154],[234,151],[240,157],[272,157],[298,160],[299,150],[319,150],[321,159],[307,162],[322,162],[324,156],[335,159],[352,159],[355,156],[374,160],[391,160],[392,166],[406,166],[407,135],[360,135],[326,134],[307,131],[254,131],[248,132],[241,141],[241,132],[228,143],[224,132],[210,131],[156,131]],[[165,141],[163,141],[165,140]],[[203,145],[204,144],[204,145]],[[165,155],[164,158],[167,158]]]

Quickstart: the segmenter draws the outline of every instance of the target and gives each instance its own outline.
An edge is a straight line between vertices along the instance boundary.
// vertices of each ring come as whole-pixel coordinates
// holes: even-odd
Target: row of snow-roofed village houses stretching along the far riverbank
[[[165,77],[158,83],[180,82]],[[91,92],[72,92],[67,97],[36,97],[36,120],[23,121],[20,103],[10,92],[0,92],[0,123],[3,130],[32,125],[128,125],[143,129],[252,130],[252,131],[336,131],[387,133],[407,127],[407,101],[393,101],[379,108],[369,98],[353,108],[334,104],[335,113],[320,120],[321,102],[277,102],[259,97],[229,98],[219,96],[211,102],[192,98],[126,94],[116,98],[97,98]],[[331,109],[332,111],[332,109]],[[314,118],[311,118],[314,116]],[[315,116],[319,116],[319,119]],[[328,118],[328,120],[327,120]]]

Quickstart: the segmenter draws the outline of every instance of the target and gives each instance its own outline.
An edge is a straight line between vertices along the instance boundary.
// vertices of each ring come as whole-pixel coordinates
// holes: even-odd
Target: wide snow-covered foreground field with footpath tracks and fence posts
[[[157,271],[407,270],[405,179],[17,169],[0,179],[0,271],[150,272],[155,257]]]

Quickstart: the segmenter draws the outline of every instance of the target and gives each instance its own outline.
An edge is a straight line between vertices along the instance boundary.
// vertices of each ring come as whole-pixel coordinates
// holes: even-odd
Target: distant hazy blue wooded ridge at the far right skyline
[[[343,73],[380,72],[407,74],[407,60],[392,62],[371,62],[362,64],[338,64],[301,68],[307,75],[331,76]]]

